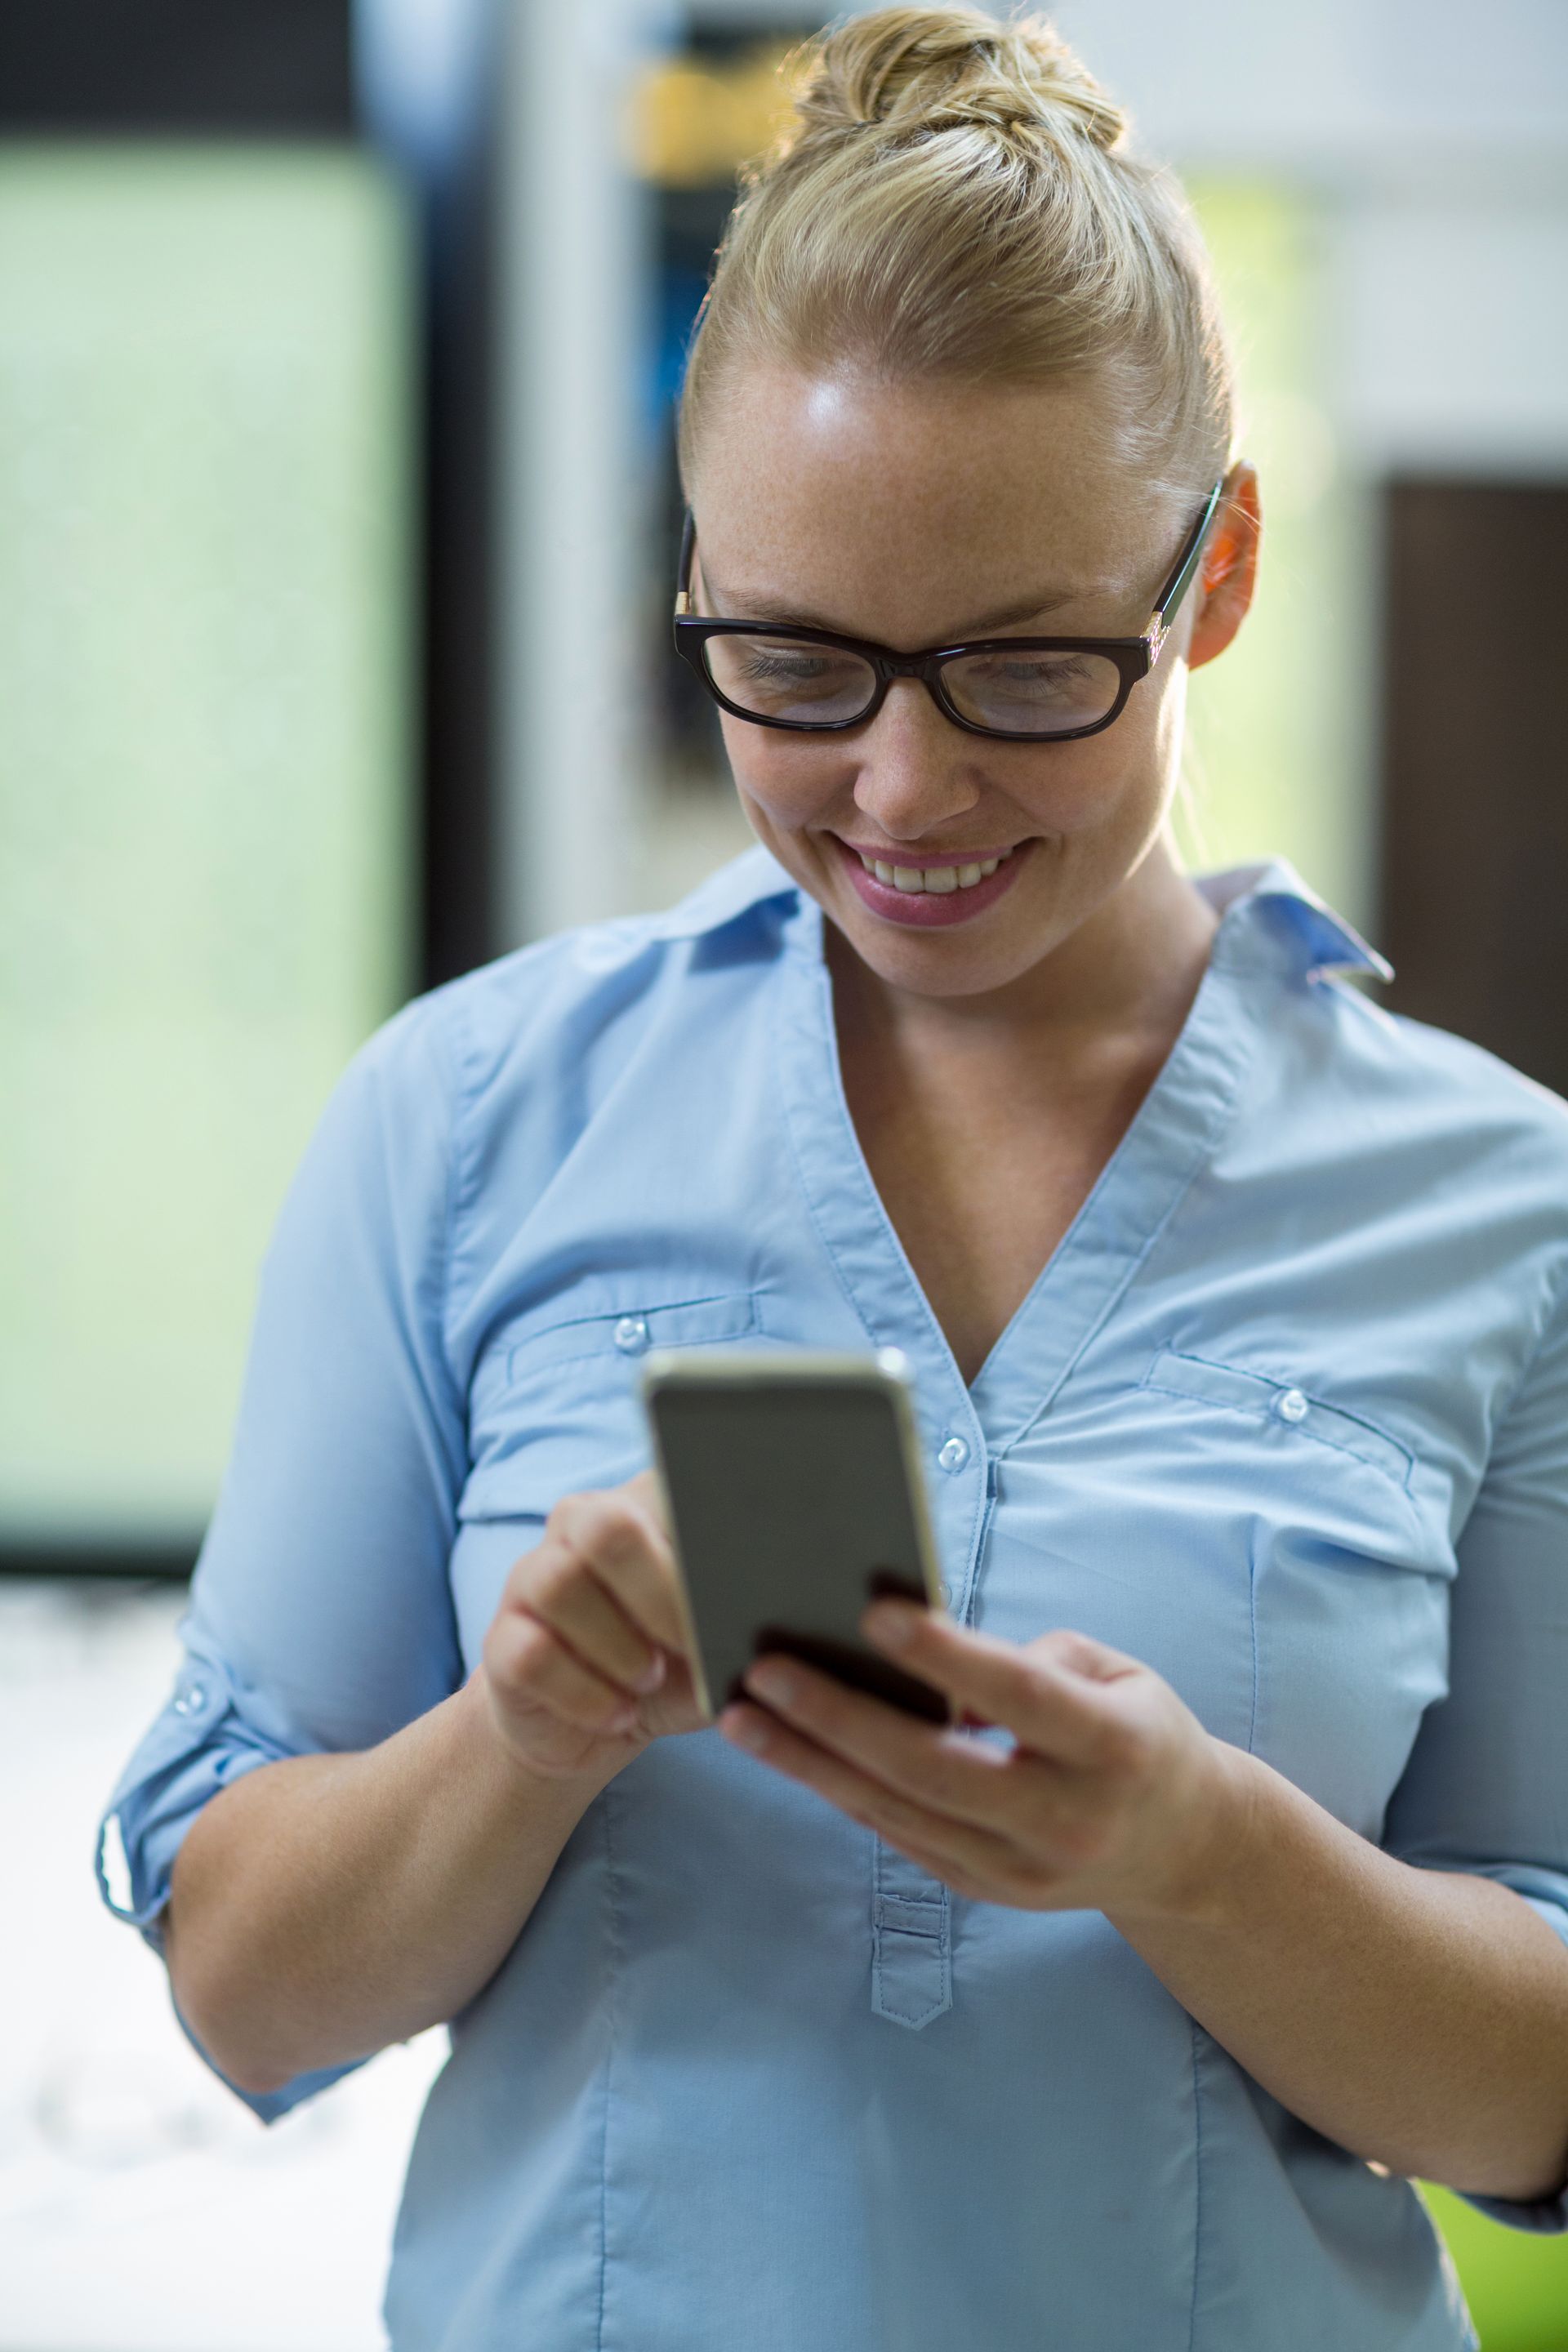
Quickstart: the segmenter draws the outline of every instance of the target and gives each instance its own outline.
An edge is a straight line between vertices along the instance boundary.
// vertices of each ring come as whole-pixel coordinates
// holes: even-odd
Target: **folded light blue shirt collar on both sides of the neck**
[[[1394,967],[1302,882],[1288,858],[1225,866],[1192,880],[1220,917],[1227,948],[1234,943],[1244,962],[1255,960],[1244,946],[1251,941],[1267,943],[1274,960],[1284,957],[1300,978],[1319,971],[1375,971],[1380,981],[1394,978]],[[766,898],[783,896],[804,898],[804,891],[771,849],[757,842],[698,882],[668,915],[656,915],[649,929],[654,938],[698,938],[736,922]]]

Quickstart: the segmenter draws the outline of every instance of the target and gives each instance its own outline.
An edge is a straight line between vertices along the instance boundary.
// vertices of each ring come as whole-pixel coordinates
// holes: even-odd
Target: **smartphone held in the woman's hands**
[[[905,1357],[656,1348],[642,1402],[705,1715],[773,1649],[950,1722],[943,1691],[860,1637],[882,1592],[943,1606]]]

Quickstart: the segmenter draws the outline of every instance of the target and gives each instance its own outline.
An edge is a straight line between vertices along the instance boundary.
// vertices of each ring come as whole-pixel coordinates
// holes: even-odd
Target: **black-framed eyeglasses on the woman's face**
[[[1100,734],[1126,708],[1171,633],[1220,506],[1208,492],[1140,637],[971,637],[898,654],[795,621],[708,621],[691,612],[696,522],[686,510],[675,581],[675,652],[722,710],[757,727],[842,734],[875,717],[896,677],[919,677],[954,727],[1013,743]]]

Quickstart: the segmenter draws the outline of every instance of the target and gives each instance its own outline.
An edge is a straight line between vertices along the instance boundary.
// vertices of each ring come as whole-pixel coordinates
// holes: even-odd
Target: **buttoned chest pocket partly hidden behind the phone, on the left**
[[[505,1324],[470,1388],[473,1470],[458,1519],[543,1519],[564,1494],[618,1486],[649,1468],[637,1374],[649,1348],[717,1348],[764,1338],[755,1291],[649,1298],[595,1284],[595,1310],[552,1301]]]

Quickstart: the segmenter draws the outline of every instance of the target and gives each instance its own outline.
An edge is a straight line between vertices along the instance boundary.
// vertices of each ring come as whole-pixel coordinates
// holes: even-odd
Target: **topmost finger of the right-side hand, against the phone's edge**
[[[1044,1642],[1018,1649],[933,1609],[891,1599],[872,1602],[860,1630],[912,1675],[1060,1764],[1093,1771],[1121,1759],[1126,1719],[1105,1679],[1077,1672]],[[1135,1670],[1135,1661],[1128,1668]]]

